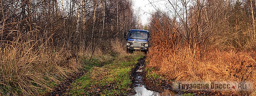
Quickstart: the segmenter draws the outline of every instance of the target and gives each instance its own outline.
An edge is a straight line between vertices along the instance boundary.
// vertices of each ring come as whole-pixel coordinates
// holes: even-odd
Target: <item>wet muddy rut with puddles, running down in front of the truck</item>
[[[149,88],[148,86],[155,86],[154,84],[150,84],[147,83],[145,86],[145,82],[147,79],[146,78],[146,72],[144,71],[145,69],[145,57],[140,58],[138,60],[138,63],[136,64],[136,66],[134,67],[134,69],[132,69],[132,81],[133,81],[133,93],[130,93],[129,95],[131,96],[176,96],[175,93],[173,93],[172,91],[168,90],[168,88],[165,87],[164,90],[162,90],[161,92],[159,90],[153,90],[151,91],[153,88]],[[166,85],[168,86],[168,85]],[[155,86],[156,87],[156,86]],[[159,87],[159,86],[158,86]],[[161,88],[163,89],[163,88]],[[135,91],[135,92],[134,92]]]

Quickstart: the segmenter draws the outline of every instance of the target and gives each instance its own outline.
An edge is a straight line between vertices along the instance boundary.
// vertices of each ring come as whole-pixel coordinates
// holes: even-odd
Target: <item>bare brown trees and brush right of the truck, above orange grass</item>
[[[148,24],[148,30],[156,34],[154,42],[166,40],[169,48],[194,51],[212,45],[238,51],[256,48],[254,0],[168,0],[166,4],[170,10],[152,13]]]

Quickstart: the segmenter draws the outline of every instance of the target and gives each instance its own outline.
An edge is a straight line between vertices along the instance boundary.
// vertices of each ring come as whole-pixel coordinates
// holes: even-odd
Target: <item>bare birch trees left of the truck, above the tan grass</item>
[[[29,36],[29,40],[43,42],[51,38],[51,44],[57,45],[58,41],[58,46],[65,44],[70,49],[88,46],[100,38],[120,37],[121,31],[138,26],[131,0],[2,0],[1,3],[2,45],[14,41],[21,33]]]

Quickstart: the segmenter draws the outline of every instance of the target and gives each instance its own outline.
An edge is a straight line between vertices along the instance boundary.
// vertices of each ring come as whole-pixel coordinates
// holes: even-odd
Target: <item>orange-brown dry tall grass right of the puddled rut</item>
[[[157,72],[176,81],[253,81],[255,80],[255,52],[219,51],[212,49],[195,62],[187,48],[180,51],[167,52],[168,56],[160,56],[161,52],[151,49],[148,53],[148,67],[157,67]],[[241,69],[241,70],[240,70]],[[245,70],[247,73],[244,75]],[[240,70],[240,72],[238,72]],[[252,74],[248,76],[248,73]],[[234,75],[235,74],[235,75]],[[246,79],[247,78],[247,79]]]

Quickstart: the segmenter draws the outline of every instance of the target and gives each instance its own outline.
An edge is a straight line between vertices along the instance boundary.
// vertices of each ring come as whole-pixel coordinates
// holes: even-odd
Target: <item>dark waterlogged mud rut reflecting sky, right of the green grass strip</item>
[[[131,80],[133,88],[128,91],[129,96],[176,96],[171,88],[171,83],[164,81],[161,84],[154,84],[151,80],[146,79],[145,57],[140,58],[138,63],[132,69]],[[134,92],[135,91],[135,92]]]

